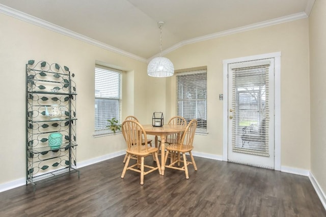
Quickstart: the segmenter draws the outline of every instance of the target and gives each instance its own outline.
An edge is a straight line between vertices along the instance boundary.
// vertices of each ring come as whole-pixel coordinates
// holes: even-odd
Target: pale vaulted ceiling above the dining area
[[[314,0],[0,0],[0,12],[147,60],[159,53],[158,21],[165,22],[166,53],[184,44],[304,18],[313,4]]]

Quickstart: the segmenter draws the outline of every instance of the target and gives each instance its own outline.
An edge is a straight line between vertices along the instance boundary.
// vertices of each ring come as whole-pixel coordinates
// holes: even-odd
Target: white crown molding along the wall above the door
[[[312,0],[312,1],[314,2],[314,0]],[[301,12],[301,13],[296,13],[296,14],[284,16],[284,17],[279,17],[279,18],[276,18],[276,19],[271,19],[271,20],[267,20],[267,21],[263,21],[263,22],[258,22],[258,23],[254,23],[254,24],[250,24],[250,25],[245,25],[245,26],[241,26],[241,27],[237,27],[237,28],[232,28],[232,29],[229,29],[229,30],[225,30],[225,31],[218,32],[218,33],[213,33],[213,34],[206,35],[206,36],[201,36],[201,37],[185,40],[185,41],[182,41],[180,43],[175,44],[174,46],[172,46],[172,47],[170,47],[168,49],[163,50],[162,55],[170,53],[173,50],[176,50],[176,49],[178,49],[178,48],[180,48],[180,47],[182,47],[184,45],[187,45],[187,44],[194,44],[194,43],[197,43],[197,42],[202,42],[202,41],[206,41],[206,40],[210,40],[210,39],[215,39],[215,38],[220,38],[220,37],[224,37],[224,36],[228,36],[228,35],[242,33],[242,32],[246,32],[246,31],[249,31],[249,30],[257,29],[257,28],[263,28],[263,27],[266,27],[266,26],[277,25],[277,24],[281,24],[281,23],[284,23],[284,22],[290,22],[290,21],[294,21],[294,20],[298,20],[298,19],[304,19],[304,18],[307,18],[307,17],[308,17],[308,15],[305,12]],[[156,57],[157,55],[158,54],[150,57],[148,59],[148,61],[151,60],[152,58]]]

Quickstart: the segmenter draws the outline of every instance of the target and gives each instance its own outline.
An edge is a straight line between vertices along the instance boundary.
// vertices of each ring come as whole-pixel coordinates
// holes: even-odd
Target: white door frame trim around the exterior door
[[[275,170],[281,171],[281,52],[223,60],[223,161],[228,161],[228,64],[274,58],[275,70]]]

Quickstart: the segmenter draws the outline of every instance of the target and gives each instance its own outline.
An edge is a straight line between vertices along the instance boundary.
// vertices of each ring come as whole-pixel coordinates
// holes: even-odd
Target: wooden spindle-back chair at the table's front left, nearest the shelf
[[[155,170],[158,170],[161,174],[161,168],[157,157],[157,148],[143,145],[143,139],[147,139],[146,132],[143,126],[135,120],[125,120],[122,123],[122,134],[127,144],[127,161],[124,165],[121,178],[127,170],[139,172],[141,174],[140,184],[144,184],[144,176]],[[145,157],[154,154],[156,160],[156,167],[145,165]],[[128,166],[131,156],[136,156],[140,161],[136,161],[135,164]],[[155,163],[154,163],[155,164]],[[145,171],[145,168],[149,169]]]

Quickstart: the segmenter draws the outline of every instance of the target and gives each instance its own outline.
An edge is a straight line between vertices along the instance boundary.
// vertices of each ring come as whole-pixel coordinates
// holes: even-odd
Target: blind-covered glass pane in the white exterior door
[[[232,67],[233,151],[269,156],[268,68],[268,62]]]

